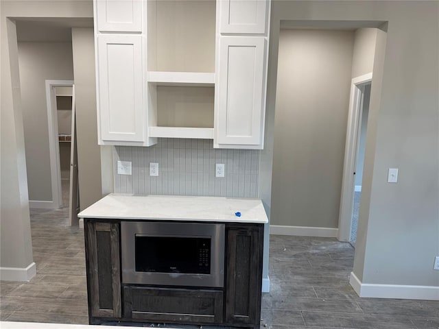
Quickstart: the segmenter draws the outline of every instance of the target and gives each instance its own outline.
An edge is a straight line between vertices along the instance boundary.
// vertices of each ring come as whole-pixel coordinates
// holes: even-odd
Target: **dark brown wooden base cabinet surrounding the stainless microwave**
[[[122,284],[120,221],[84,219],[84,229],[90,324],[259,327],[263,224],[226,223],[224,288]]]

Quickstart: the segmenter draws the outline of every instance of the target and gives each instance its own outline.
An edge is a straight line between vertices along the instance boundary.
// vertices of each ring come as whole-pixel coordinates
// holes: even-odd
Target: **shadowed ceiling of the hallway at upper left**
[[[19,42],[70,42],[72,27],[92,27],[93,19],[16,19]]]

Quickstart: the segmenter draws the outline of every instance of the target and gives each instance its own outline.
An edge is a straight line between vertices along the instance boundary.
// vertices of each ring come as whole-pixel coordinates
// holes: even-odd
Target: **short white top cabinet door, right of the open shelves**
[[[220,1],[220,33],[265,34],[268,0]]]

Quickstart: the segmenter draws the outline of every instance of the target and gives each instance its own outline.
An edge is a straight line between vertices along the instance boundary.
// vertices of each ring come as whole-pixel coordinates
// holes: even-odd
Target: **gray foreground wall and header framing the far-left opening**
[[[7,17],[93,17],[91,1],[1,1],[0,268],[32,264],[25,139],[15,24]]]

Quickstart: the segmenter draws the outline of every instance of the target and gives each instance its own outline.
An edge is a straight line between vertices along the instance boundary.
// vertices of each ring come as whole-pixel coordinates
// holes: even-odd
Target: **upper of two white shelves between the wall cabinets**
[[[149,71],[147,81],[157,86],[215,86],[215,73]]]

